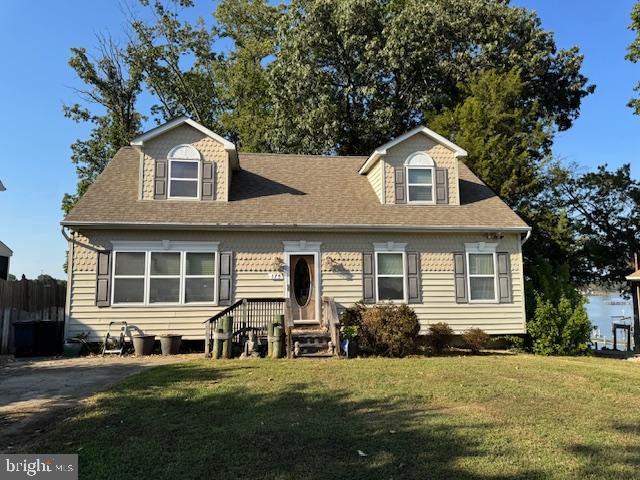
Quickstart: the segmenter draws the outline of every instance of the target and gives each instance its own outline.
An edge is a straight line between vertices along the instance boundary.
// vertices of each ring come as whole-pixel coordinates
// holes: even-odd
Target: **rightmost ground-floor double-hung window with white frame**
[[[469,301],[497,301],[495,247],[467,247]]]

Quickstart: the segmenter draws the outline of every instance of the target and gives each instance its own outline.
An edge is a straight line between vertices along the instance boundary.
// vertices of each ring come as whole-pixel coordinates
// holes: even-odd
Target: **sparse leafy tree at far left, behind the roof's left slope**
[[[76,204],[89,185],[104,170],[118,149],[139,133],[141,115],[135,109],[141,91],[141,72],[131,65],[122,49],[110,38],[98,37],[99,57],[92,59],[84,48],[72,48],[69,66],[86,85],[76,89],[83,104],[64,106],[64,115],[77,123],[90,123],[86,140],[71,145],[71,161],[76,165],[78,185],[74,194],[65,194],[65,213]],[[102,109],[92,112],[86,105]]]

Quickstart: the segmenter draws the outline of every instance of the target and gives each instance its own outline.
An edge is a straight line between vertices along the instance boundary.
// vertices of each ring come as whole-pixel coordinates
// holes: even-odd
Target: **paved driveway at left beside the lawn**
[[[16,449],[82,399],[129,375],[195,358],[202,354],[17,359],[0,366],[0,452],[28,453]]]

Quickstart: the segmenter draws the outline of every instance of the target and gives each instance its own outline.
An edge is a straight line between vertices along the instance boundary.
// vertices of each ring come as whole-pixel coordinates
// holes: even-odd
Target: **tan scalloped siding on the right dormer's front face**
[[[395,177],[394,168],[401,167],[409,155],[416,152],[428,153],[437,167],[447,169],[449,178],[449,205],[460,205],[460,192],[458,190],[458,159],[447,147],[434,142],[424,134],[418,133],[404,142],[389,149],[380,162],[385,165],[386,203],[395,203]],[[379,162],[379,163],[380,163]]]

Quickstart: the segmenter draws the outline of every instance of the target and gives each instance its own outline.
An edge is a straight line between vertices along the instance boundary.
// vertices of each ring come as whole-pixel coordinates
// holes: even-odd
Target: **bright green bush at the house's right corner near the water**
[[[533,351],[540,355],[585,355],[592,331],[584,308],[585,300],[567,298],[556,302],[536,297],[536,310],[527,327],[533,339]]]

